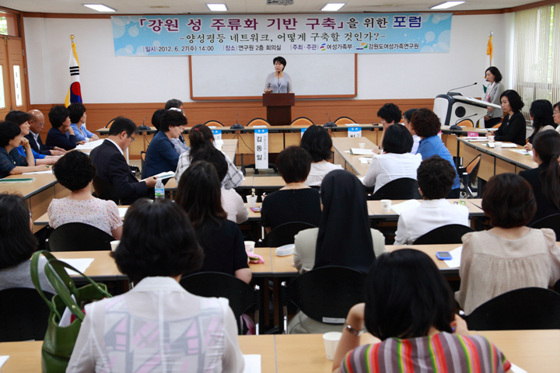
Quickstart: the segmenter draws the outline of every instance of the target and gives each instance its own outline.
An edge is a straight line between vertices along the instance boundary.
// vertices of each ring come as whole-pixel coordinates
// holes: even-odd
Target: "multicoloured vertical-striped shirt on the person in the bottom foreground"
[[[485,337],[438,333],[411,339],[390,338],[359,346],[342,360],[341,371],[363,372],[505,372],[511,363]]]

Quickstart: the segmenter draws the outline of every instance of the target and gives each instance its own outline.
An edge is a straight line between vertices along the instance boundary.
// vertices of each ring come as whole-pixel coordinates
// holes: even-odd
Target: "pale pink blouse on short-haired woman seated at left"
[[[57,228],[67,223],[93,225],[107,234],[122,225],[119,209],[113,201],[103,199],[53,199],[48,208],[49,225]]]

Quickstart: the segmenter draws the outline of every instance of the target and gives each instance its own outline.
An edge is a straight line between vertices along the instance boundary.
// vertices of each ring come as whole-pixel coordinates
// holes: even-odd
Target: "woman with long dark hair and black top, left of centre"
[[[252,273],[243,234],[226,219],[216,168],[206,161],[193,163],[181,176],[175,202],[187,212],[204,249],[201,271],[224,272],[249,283]]]

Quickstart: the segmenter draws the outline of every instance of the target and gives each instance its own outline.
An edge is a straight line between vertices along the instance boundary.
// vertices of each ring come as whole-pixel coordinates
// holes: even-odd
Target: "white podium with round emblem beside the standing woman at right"
[[[476,127],[476,123],[486,115],[488,106],[501,109],[500,105],[449,92],[436,96],[434,113],[444,126],[452,126],[468,120],[473,123],[473,127]]]

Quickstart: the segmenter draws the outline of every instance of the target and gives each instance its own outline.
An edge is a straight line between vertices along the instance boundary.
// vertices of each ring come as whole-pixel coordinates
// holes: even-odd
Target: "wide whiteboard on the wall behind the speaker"
[[[192,99],[260,97],[275,55],[192,56]],[[285,55],[296,96],[355,96],[354,54]]]

